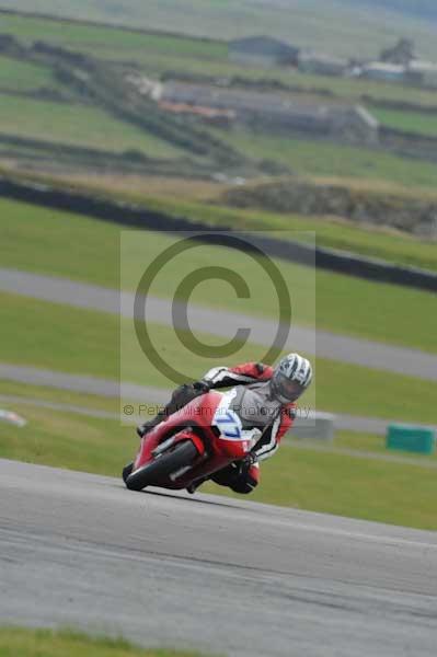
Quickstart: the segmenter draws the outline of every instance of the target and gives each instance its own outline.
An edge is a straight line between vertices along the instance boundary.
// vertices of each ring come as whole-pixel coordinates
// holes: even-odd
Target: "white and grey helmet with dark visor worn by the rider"
[[[299,354],[288,354],[274,369],[271,379],[272,395],[281,404],[295,402],[309,387],[311,380],[311,362]]]

